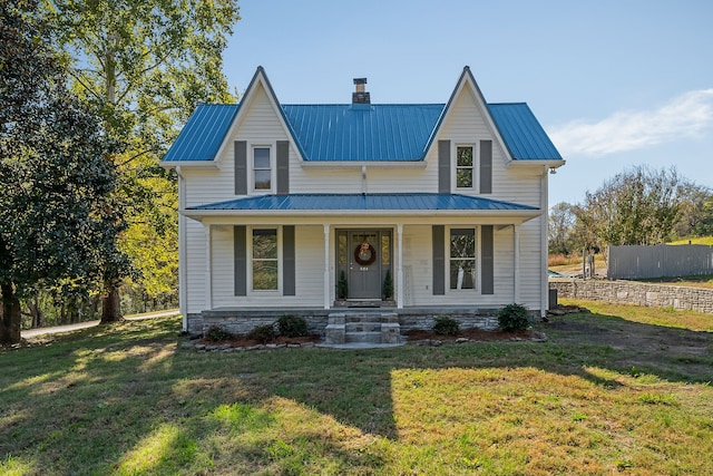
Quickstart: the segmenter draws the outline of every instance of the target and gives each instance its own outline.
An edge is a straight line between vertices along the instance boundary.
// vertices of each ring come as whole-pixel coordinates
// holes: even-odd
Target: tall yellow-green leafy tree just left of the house
[[[157,164],[197,103],[233,99],[222,54],[240,19],[237,0],[43,1],[77,91],[99,106],[126,148],[117,166],[131,227],[115,239],[141,271],[145,290],[165,290],[175,282],[177,256],[145,259],[177,247],[175,181]],[[102,321],[120,318],[119,283],[105,282]]]

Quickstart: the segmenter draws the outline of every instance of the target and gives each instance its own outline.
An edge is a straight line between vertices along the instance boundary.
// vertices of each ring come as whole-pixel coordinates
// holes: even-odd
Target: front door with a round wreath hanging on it
[[[378,231],[349,232],[349,299],[381,299],[380,251]]]

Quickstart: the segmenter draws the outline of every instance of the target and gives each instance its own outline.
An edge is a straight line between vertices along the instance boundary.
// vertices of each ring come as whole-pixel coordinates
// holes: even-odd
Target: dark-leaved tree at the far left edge
[[[0,342],[20,341],[20,298],[77,285],[126,256],[107,236],[124,229],[111,198],[119,152],[67,75],[37,21],[35,0],[0,4]]]

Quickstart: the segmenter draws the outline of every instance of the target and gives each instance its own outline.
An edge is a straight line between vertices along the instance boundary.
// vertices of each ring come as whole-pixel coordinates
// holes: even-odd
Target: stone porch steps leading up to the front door
[[[400,343],[401,326],[394,312],[333,312],[329,314],[324,341],[341,343]]]

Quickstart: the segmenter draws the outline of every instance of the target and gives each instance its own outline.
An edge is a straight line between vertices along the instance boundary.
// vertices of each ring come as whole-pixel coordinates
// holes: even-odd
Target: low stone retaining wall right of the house
[[[713,290],[633,281],[550,280],[557,298],[621,302],[713,313]]]

